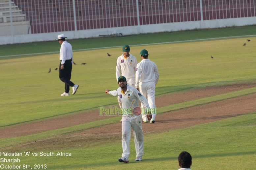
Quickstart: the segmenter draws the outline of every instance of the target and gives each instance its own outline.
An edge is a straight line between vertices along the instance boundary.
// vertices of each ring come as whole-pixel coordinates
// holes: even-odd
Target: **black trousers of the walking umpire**
[[[69,87],[73,87],[75,84],[70,81],[71,79],[71,71],[72,71],[72,62],[71,60],[66,60],[64,63],[64,69],[61,70],[61,61],[60,61],[60,68],[59,68],[59,77],[60,80],[65,83],[65,92],[69,93]]]

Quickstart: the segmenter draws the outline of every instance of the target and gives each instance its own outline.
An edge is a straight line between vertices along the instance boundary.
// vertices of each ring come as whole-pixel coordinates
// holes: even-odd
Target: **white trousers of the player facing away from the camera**
[[[155,103],[155,89],[156,89],[156,85],[154,81],[150,81],[150,82],[140,82],[139,83],[139,88],[140,88],[140,93],[146,97],[146,99],[148,100],[149,103],[149,107],[155,108],[156,107],[156,103]],[[141,104],[140,108],[144,108],[143,104]],[[148,121],[147,115],[143,114],[142,115],[143,121]],[[152,114],[152,119],[156,120],[156,113]]]

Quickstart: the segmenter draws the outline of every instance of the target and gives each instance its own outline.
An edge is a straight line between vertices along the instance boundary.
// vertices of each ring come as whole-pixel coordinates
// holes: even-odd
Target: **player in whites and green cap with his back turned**
[[[142,60],[137,64],[135,87],[141,92],[143,96],[147,98],[150,108],[155,109],[155,89],[159,79],[159,73],[156,63],[148,59],[149,54],[147,50],[141,50],[140,55]],[[143,103],[141,103],[140,108],[145,108]],[[144,122],[149,121],[145,114],[142,114],[142,118]],[[152,113],[152,119],[150,120],[150,123],[155,123],[155,118],[156,113]]]

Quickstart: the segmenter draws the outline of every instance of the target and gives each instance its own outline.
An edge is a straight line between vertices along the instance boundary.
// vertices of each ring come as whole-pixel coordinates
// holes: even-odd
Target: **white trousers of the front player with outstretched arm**
[[[129,159],[130,157],[130,140],[131,140],[131,128],[134,136],[136,157],[143,156],[144,137],[142,130],[142,117],[139,116],[122,116],[122,157]]]

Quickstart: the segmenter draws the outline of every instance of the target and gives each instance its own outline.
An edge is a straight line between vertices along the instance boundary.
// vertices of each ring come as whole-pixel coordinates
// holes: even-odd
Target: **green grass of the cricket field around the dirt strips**
[[[0,152],[21,152],[20,164],[47,164],[47,169],[179,169],[178,155],[188,151],[192,155],[191,169],[253,169],[256,168],[256,113],[228,118],[212,123],[161,133],[144,134],[143,161],[135,162],[133,138],[130,144],[130,163],[117,161],[122,154],[121,134],[115,137],[76,137],[84,129],[120,121],[119,116],[46,131],[34,135],[1,138],[1,129],[62,115],[72,115],[100,106],[116,106],[117,98],[106,95],[105,89],[115,90],[117,57],[121,46],[128,44],[130,53],[141,61],[139,52],[147,49],[160,74],[156,96],[190,89],[200,89],[256,79],[256,26],[185,32],[165,32],[124,37],[69,40],[75,51],[71,81],[79,85],[75,95],[60,96],[64,83],[58,71],[59,54],[0,57]],[[57,36],[57,35],[56,35]],[[238,36],[238,37],[234,37]],[[244,37],[239,37],[244,36]],[[231,37],[231,38],[222,38]],[[205,38],[219,38],[200,40]],[[246,39],[250,39],[247,42]],[[179,43],[141,45],[150,43]],[[246,46],[242,46],[246,43]],[[135,46],[136,45],[136,46]],[[0,56],[57,52],[56,41],[0,46]],[[111,56],[107,56],[110,53]],[[214,58],[212,59],[211,56]],[[87,63],[81,65],[81,63]],[[51,68],[51,73],[47,73]],[[186,101],[157,108],[159,114],[203,105],[210,102],[256,93],[256,88]],[[65,106],[65,107],[64,107]],[[170,113],[171,114],[171,113]],[[121,126],[120,126],[121,128]],[[74,138],[69,141],[61,136]],[[47,140],[47,145],[27,145]],[[55,157],[32,156],[32,153],[54,152]],[[58,152],[72,156],[57,157]],[[25,156],[24,152],[31,152]],[[0,157],[12,159],[16,157]],[[0,165],[3,164],[0,162]],[[10,165],[12,163],[9,163]],[[15,163],[14,163],[15,164]],[[21,166],[22,169],[22,166]],[[41,168],[42,169],[42,168]]]

